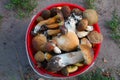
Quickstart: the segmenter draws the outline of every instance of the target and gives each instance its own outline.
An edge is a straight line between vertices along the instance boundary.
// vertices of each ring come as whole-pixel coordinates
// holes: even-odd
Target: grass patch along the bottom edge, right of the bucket
[[[93,72],[78,76],[78,80],[115,80],[115,78],[103,76],[102,70],[98,68]]]

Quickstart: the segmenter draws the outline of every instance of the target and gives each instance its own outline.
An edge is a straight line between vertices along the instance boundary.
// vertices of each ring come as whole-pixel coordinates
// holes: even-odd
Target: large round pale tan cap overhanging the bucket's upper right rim
[[[98,22],[98,14],[93,9],[86,9],[83,12],[83,18],[88,20],[88,25],[93,25]]]

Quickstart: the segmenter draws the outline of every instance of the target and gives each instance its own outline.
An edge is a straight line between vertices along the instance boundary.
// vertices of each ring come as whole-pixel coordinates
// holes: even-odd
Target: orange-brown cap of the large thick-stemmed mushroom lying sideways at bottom
[[[83,52],[85,64],[90,65],[94,57],[92,48],[87,45],[80,45],[80,49]]]

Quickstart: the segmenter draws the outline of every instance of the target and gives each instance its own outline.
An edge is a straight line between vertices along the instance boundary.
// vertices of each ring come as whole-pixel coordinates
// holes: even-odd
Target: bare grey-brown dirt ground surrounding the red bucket
[[[0,23],[0,80],[26,80],[31,76],[30,80],[40,78],[29,66],[26,49],[25,34],[33,15],[48,5],[58,2],[70,2],[84,6],[83,0],[38,0],[38,6],[34,9],[30,17],[23,19],[16,18],[16,14],[12,10],[5,9],[5,5],[9,0],[0,0],[0,15],[3,19]],[[105,25],[106,20],[111,19],[112,11],[117,9],[120,16],[119,0],[96,0],[95,5],[99,13],[99,26],[104,36],[100,54],[91,69],[100,67],[102,69],[120,69],[120,48],[110,37],[109,30]],[[104,63],[103,59],[107,62]],[[91,70],[90,69],[90,70]],[[89,70],[88,70],[89,71]],[[115,75],[116,80],[120,80]],[[71,78],[68,80],[77,80]],[[46,79],[45,79],[46,80]]]

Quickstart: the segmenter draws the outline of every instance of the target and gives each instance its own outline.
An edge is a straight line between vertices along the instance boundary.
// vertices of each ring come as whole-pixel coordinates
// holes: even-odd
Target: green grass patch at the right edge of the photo
[[[120,17],[116,10],[112,13],[111,20],[107,21],[107,26],[110,30],[110,37],[117,43],[120,43]]]

